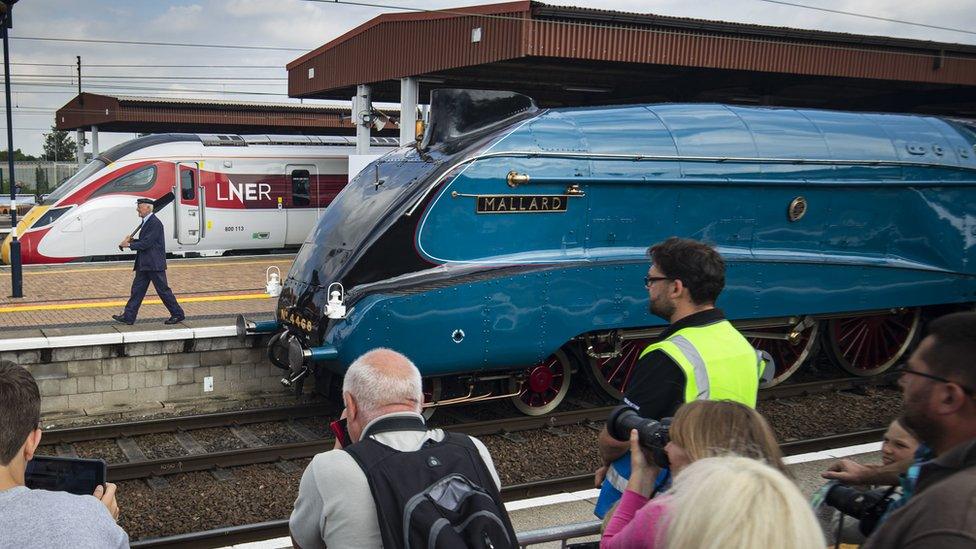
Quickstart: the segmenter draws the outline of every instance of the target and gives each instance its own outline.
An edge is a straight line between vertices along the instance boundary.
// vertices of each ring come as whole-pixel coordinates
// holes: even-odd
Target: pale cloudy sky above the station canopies
[[[82,89],[92,93],[297,102],[287,97],[285,65],[373,17],[402,11],[391,6],[438,9],[492,3],[488,0],[361,0],[382,6],[371,7],[349,5],[344,1],[21,0],[14,6],[13,29],[10,30],[14,148],[28,154],[40,154],[43,136],[54,123],[54,111],[77,93],[75,62],[79,55],[82,58]],[[790,1],[974,31],[957,32],[878,21],[763,0],[549,0],[546,3],[976,44],[976,0]],[[282,49],[95,44],[30,38]],[[2,126],[0,143],[6,149],[6,124]],[[105,150],[132,137],[131,133],[100,132],[99,148]]]

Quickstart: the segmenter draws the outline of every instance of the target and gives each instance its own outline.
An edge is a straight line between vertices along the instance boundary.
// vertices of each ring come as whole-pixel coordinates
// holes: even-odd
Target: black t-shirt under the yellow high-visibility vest
[[[666,339],[678,330],[692,326],[706,326],[725,320],[720,309],[707,309],[690,314],[661,332]],[[641,417],[657,419],[671,417],[685,402],[685,373],[664,351],[651,351],[637,362],[634,377],[624,393],[624,403],[637,410]]]

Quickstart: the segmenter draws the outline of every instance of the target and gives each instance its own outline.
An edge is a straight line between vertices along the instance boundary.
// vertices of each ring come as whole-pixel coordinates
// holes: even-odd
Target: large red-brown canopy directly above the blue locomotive
[[[976,46],[538,2],[380,15],[288,64],[292,97],[511,90],[543,106],[724,102],[976,116]]]

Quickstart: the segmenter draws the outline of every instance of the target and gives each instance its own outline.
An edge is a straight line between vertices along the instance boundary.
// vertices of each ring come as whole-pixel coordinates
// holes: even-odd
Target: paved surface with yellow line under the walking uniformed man
[[[171,259],[167,278],[188,319],[273,315],[277,298],[265,293],[270,266],[288,273],[294,255]],[[11,294],[10,267],[0,268],[0,328],[37,329],[117,324],[132,286],[132,262],[27,265],[23,298]],[[137,324],[165,327],[169,318],[152,285]]]

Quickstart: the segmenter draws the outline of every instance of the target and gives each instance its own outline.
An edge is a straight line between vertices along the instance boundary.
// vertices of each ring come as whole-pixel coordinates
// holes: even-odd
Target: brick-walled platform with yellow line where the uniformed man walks
[[[28,265],[23,298],[0,268],[0,360],[38,382],[45,424],[136,419],[167,409],[206,409],[290,394],[261,337],[237,337],[239,314],[274,318],[266,271],[288,272],[293,254],[173,259],[167,278],[186,313],[169,312],[150,288],[135,325],[112,319],[132,286],[132,261]]]

